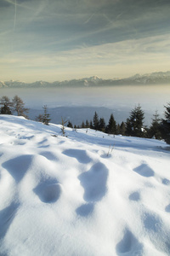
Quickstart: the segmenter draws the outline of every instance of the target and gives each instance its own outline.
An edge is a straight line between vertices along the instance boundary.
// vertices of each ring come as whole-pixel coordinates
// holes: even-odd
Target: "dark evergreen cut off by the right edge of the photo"
[[[165,118],[162,119],[161,125],[161,135],[164,138],[167,144],[170,144],[170,102],[167,103],[167,106],[164,106],[165,110]]]

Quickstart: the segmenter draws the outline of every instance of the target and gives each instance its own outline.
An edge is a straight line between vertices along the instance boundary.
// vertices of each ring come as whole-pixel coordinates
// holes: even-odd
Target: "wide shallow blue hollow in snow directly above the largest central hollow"
[[[89,158],[86,150],[82,149],[66,149],[63,151],[63,154],[74,157],[82,164],[88,164],[91,161],[91,158]]]

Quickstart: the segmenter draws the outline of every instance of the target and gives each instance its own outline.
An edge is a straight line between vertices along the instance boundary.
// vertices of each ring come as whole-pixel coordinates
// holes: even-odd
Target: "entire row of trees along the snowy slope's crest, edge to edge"
[[[26,113],[28,113],[28,108],[25,108],[25,103],[21,100],[19,96],[14,96],[12,101],[8,98],[8,96],[2,96],[0,98],[0,104],[2,107],[0,108],[1,114],[17,114],[19,116],[24,116],[28,119]],[[78,128],[90,128],[95,131],[103,131],[108,134],[114,135],[122,135],[122,136],[132,136],[132,137],[148,137],[148,138],[156,138],[156,139],[164,139],[166,143],[170,144],[170,102],[167,103],[165,107],[165,118],[160,119],[159,114],[153,114],[153,118],[151,121],[150,127],[144,125],[144,111],[141,106],[137,106],[133,108],[130,112],[129,117],[126,122],[122,122],[121,124],[117,124],[114,118],[113,113],[111,113],[111,117],[109,119],[108,124],[105,124],[105,119],[99,118],[97,112],[94,113],[94,118],[90,121],[88,119],[84,122],[82,121],[82,125],[72,125],[71,121],[65,121],[64,125],[67,123],[68,127],[78,129]],[[48,125],[50,121],[50,114],[48,113],[47,106],[43,106],[43,113],[39,114],[36,118],[37,121],[42,122],[44,125]],[[63,125],[63,124],[61,124]]]

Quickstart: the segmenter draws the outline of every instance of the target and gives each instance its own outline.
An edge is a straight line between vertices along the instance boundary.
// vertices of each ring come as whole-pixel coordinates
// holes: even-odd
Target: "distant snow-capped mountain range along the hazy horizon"
[[[142,85],[142,84],[170,84],[170,71],[149,74],[135,74],[126,79],[100,79],[97,76],[84,79],[71,79],[65,81],[36,81],[26,83],[22,81],[0,81],[0,88],[47,88],[47,87],[92,87],[113,85]]]

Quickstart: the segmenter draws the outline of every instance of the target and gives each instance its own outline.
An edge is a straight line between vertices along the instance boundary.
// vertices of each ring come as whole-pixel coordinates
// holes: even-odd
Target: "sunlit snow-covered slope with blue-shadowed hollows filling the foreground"
[[[7,115],[0,127],[1,256],[170,255],[166,143],[62,137],[59,125]]]

